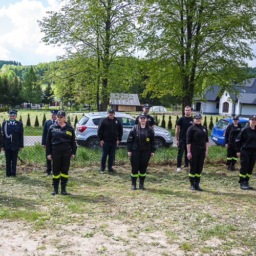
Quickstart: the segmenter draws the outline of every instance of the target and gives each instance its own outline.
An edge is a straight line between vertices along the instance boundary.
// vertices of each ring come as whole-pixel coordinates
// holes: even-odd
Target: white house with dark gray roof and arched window
[[[249,117],[256,114],[256,78],[248,79],[234,88],[237,96],[227,91],[221,93],[221,87],[211,86],[201,100],[195,99],[192,108],[205,115]]]

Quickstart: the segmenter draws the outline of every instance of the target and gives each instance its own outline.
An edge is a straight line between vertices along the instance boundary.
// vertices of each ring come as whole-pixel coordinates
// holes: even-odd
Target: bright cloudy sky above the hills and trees
[[[62,48],[40,42],[44,34],[37,23],[47,11],[57,11],[60,6],[59,0],[0,0],[0,60],[26,66],[54,61],[62,55]],[[256,55],[256,45],[252,48]],[[247,62],[256,67],[256,59]]]

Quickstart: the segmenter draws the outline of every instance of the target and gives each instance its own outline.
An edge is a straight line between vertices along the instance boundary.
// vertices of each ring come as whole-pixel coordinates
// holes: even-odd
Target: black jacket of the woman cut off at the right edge
[[[241,147],[243,150],[256,151],[256,129],[251,129],[249,125],[242,129],[234,142],[234,148],[237,152],[241,151]]]

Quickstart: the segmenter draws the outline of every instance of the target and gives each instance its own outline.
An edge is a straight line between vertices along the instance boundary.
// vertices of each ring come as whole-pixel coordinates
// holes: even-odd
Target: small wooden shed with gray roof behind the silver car
[[[137,94],[111,93],[109,105],[111,105],[112,109],[119,112],[143,112],[143,104],[140,104]]]

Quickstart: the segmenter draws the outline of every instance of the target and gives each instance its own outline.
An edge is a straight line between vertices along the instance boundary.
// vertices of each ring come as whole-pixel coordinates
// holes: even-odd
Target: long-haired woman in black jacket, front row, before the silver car
[[[128,156],[132,164],[132,189],[136,189],[136,181],[139,176],[139,188],[144,190],[146,168],[151,157],[155,156],[155,133],[148,126],[147,115],[141,113],[139,124],[135,125],[127,139]]]

